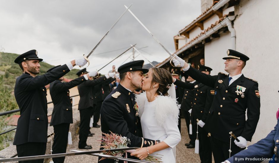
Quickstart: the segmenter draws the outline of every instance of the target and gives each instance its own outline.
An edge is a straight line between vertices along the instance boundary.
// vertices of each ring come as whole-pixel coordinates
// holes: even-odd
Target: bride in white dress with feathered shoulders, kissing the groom
[[[175,97],[168,95],[172,85],[171,74],[163,68],[151,68],[142,78],[142,90],[145,92],[136,95],[136,102],[143,137],[161,142],[139,148],[131,156],[143,160],[152,155],[161,157],[161,161],[165,163],[175,162],[175,146],[181,140],[177,127],[180,106]]]

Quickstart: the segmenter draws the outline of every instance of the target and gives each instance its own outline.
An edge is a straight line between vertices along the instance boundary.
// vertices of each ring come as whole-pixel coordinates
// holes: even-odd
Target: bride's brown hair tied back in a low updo
[[[156,91],[158,95],[167,96],[169,87],[172,85],[172,75],[164,68],[150,68],[152,70],[152,81],[153,83],[158,83],[159,88]],[[152,87],[152,86],[151,86]]]

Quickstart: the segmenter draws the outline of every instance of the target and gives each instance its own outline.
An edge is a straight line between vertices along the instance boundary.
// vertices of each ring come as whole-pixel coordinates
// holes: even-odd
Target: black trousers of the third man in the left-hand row
[[[87,146],[86,141],[88,134],[90,132],[90,118],[93,111],[93,107],[80,110],[80,132],[79,132],[79,142],[78,147],[83,148]]]

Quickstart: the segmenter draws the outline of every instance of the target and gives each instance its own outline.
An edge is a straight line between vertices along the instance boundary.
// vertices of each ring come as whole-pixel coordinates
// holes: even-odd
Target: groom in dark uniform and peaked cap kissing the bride
[[[142,68],[143,64],[143,60],[135,60],[118,68],[121,81],[117,88],[105,98],[100,111],[102,132],[110,133],[111,131],[127,137],[131,140],[129,147],[148,147],[157,143],[155,140],[142,138],[137,104],[132,93],[134,90],[142,89],[143,74],[148,72],[148,69]],[[130,154],[128,154],[128,158],[137,159]],[[114,163],[115,160],[99,161],[99,163],[104,162]]]

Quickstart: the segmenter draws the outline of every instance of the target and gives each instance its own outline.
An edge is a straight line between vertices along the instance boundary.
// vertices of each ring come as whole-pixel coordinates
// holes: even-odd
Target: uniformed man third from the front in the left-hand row
[[[83,68],[82,70],[77,72],[77,76],[81,77],[84,74],[88,73],[86,71],[86,68]],[[90,76],[96,76],[98,73],[94,71],[94,74],[89,74]],[[80,95],[80,101],[78,103],[78,110],[80,111],[80,131],[79,131],[79,142],[78,142],[78,148],[80,149],[91,149],[91,145],[86,144],[86,140],[88,138],[88,135],[90,133],[90,117],[92,115],[92,112],[94,111],[94,106],[96,105],[96,100],[93,96],[93,87],[110,78],[113,77],[114,73],[106,74],[105,76],[102,76],[98,79],[92,80],[91,77],[89,77],[89,80],[83,82],[82,84],[77,86],[78,93]],[[93,135],[92,135],[93,136]]]

